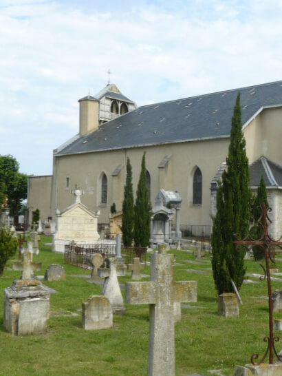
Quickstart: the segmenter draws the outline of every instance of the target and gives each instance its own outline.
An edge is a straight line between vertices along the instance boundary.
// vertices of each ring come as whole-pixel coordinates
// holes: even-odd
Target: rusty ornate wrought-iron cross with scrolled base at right
[[[261,207],[261,216],[259,217],[259,220],[257,220],[257,224],[259,224],[262,229],[263,229],[263,235],[261,236],[261,238],[259,238],[258,240],[254,240],[252,239],[252,237],[250,236],[250,234],[248,234],[246,236],[246,238],[243,238],[243,240],[236,240],[234,243],[237,244],[238,246],[239,245],[242,245],[243,247],[248,247],[249,244],[251,245],[259,245],[260,247],[263,248],[264,250],[264,254],[265,254],[265,265],[266,265],[266,269],[265,267],[263,266],[263,262],[261,262],[261,267],[264,271],[264,275],[261,276],[261,280],[265,280],[265,278],[268,279],[268,310],[269,310],[269,328],[270,328],[270,334],[269,334],[269,337],[264,337],[263,338],[263,341],[264,342],[268,342],[268,348],[266,349],[265,351],[265,354],[263,355],[263,358],[261,359],[261,361],[257,364],[254,363],[254,359],[258,359],[259,355],[258,354],[253,354],[250,358],[250,361],[252,362],[252,364],[254,365],[258,365],[258,364],[261,364],[263,362],[263,360],[265,359],[266,355],[268,355],[268,352],[269,352],[269,363],[270,364],[273,364],[273,351],[277,357],[277,359],[282,362],[282,358],[279,357],[279,355],[277,355],[276,353],[276,349],[275,349],[275,346],[274,346],[274,342],[278,342],[279,341],[279,337],[274,337],[273,336],[273,306],[272,306],[272,290],[271,290],[271,279],[270,279],[270,261],[272,263],[274,263],[274,255],[275,253],[272,253],[271,252],[271,248],[272,247],[280,247],[282,249],[282,236],[279,240],[275,241],[273,240],[272,238],[270,238],[270,235],[268,234],[268,222],[269,221],[271,223],[271,220],[270,218],[268,217],[268,214],[267,212],[268,211],[271,211],[271,208],[268,207],[268,208],[265,208],[265,205],[263,203],[262,207]]]

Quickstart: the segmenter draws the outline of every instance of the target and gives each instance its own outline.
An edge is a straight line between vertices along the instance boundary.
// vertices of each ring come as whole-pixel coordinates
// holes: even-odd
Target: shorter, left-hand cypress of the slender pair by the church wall
[[[127,157],[127,179],[124,185],[124,199],[122,202],[122,242],[124,247],[131,247],[133,240],[134,199],[132,187],[132,167]]]

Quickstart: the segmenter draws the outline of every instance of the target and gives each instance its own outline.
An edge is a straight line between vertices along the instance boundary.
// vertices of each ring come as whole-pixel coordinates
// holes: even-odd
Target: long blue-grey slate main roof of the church
[[[238,92],[243,124],[262,106],[282,105],[282,81],[144,105],[79,136],[56,155],[229,137]]]

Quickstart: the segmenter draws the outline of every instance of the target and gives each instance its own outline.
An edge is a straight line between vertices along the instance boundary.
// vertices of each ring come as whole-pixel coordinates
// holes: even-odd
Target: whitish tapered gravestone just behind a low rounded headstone
[[[98,276],[105,277],[101,295],[109,299],[113,313],[116,315],[125,314],[122,293],[118,284],[118,276],[124,276],[125,271],[124,264],[118,262],[116,258],[107,259],[107,267],[98,269]]]

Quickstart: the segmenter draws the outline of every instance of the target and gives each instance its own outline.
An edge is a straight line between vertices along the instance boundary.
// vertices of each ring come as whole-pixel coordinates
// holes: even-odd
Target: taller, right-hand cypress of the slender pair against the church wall
[[[146,184],[145,154],[142,157],[140,178],[138,182],[135,210],[133,238],[135,247],[147,247],[150,240],[151,202]]]

